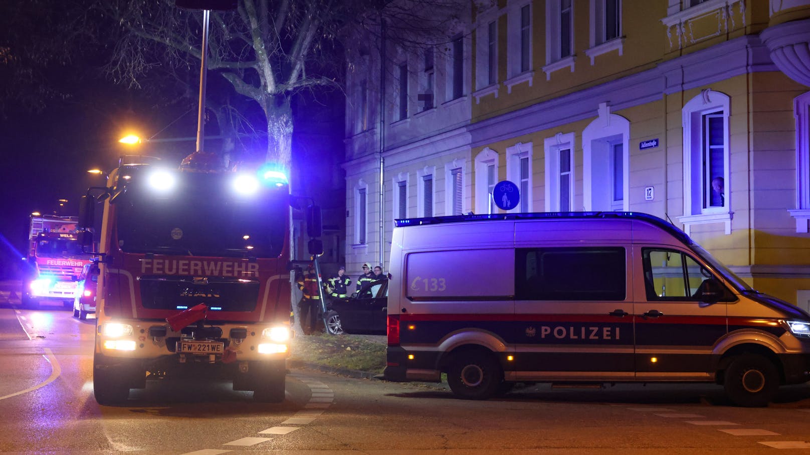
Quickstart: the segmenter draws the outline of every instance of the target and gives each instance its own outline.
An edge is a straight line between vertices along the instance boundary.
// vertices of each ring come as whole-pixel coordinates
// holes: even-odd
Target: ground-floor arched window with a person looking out
[[[683,108],[684,231],[696,223],[725,223],[731,234],[728,116],[731,99],[704,90]]]

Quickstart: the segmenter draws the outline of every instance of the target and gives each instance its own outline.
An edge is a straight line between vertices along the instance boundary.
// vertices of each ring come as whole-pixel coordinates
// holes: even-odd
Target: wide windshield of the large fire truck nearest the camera
[[[288,193],[254,198],[228,192],[222,176],[185,174],[183,191],[160,195],[132,185],[116,204],[118,246],[126,253],[207,257],[279,257]]]

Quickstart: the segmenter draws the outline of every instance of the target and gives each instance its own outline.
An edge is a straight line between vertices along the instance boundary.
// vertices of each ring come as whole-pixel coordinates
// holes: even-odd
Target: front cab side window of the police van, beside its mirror
[[[708,270],[688,254],[671,249],[642,249],[647,300],[696,300]]]

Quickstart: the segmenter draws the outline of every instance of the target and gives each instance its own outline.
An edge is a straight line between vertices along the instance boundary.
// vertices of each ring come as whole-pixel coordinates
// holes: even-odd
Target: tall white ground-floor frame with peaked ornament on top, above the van
[[[630,121],[625,117],[610,112],[607,103],[599,104],[598,117],[591,121],[582,130],[582,199],[584,209],[612,210],[603,206],[595,206],[595,199],[603,195],[605,183],[612,181],[611,152],[608,150],[614,144],[622,144],[622,187],[624,199],[619,210],[628,211],[630,190]],[[605,160],[608,159],[608,166]],[[594,185],[598,182],[597,185]],[[596,186],[596,188],[594,188]],[[611,204],[612,206],[612,204]]]

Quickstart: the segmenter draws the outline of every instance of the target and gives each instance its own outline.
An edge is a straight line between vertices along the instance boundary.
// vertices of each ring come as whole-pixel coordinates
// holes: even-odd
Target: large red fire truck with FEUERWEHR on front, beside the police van
[[[109,188],[83,198],[82,227],[92,225],[96,202],[104,207],[93,359],[102,405],[147,380],[204,377],[283,401],[296,198],[283,172],[217,172],[204,156],[190,155],[179,170],[122,161]],[[309,245],[322,253],[321,240]]]

